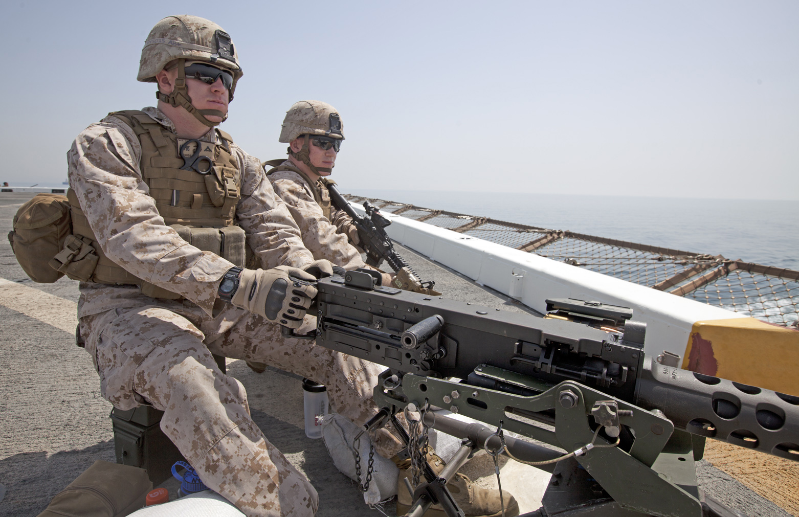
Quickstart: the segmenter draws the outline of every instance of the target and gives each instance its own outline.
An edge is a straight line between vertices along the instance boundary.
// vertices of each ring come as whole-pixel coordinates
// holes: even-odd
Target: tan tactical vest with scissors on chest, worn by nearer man
[[[241,173],[236,157],[230,152],[233,143],[230,135],[217,129],[221,144],[201,141],[202,148],[197,149],[196,145],[189,143],[184,156],[209,157],[205,161],[207,172],[203,169],[203,173],[198,173],[181,169],[189,161],[180,155],[180,145],[186,142],[179,140],[175,133],[165,129],[147,113],[130,109],[109,114],[128,124],[139,138],[141,175],[166,224],[176,229],[189,244],[243,265],[244,230],[235,225],[236,205],[241,197]],[[180,297],[133,276],[106,257],[72,189],[67,191],[67,197],[73,233],[84,242],[89,241],[87,244],[99,256],[97,268],[85,280],[102,284],[138,284],[147,296],[173,300]]]

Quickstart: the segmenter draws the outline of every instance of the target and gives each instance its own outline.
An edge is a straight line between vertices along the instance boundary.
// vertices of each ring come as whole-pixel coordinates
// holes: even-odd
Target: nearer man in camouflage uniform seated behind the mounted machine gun
[[[161,429],[208,487],[245,515],[313,515],[316,490],[252,422],[244,387],[221,372],[212,354],[316,380],[327,386],[336,412],[358,424],[377,411],[372,388],[382,368],[311,340],[284,338],[273,323],[314,328],[305,310],[316,289],[302,268],[318,274],[329,264],[305,249],[260,162],[213,129],[226,117],[227,102],[206,102],[200,93],[222,92],[229,101],[240,76],[233,43],[219,26],[192,16],[165,18],[145,42],[139,80],[160,89],[171,82],[172,92],[157,93],[158,108],[111,114],[74,141],[68,153],[74,233],[100,256],[80,284],[79,332],[102,396],[122,410],[151,404],[163,411]],[[186,128],[197,152],[216,149],[206,161],[217,178],[211,183],[202,167],[196,175],[178,169],[192,152],[182,153],[177,140]],[[154,156],[153,146],[163,153]],[[205,192],[212,184],[221,185],[221,198],[211,186]],[[200,214],[197,221],[220,214],[220,228],[243,229],[253,257],[272,269],[234,267],[221,249],[189,244],[177,224],[190,225],[191,214]],[[288,294],[276,297],[280,289],[272,287],[280,282]],[[233,288],[221,287],[228,284]],[[386,430],[373,438],[381,455],[400,449]]]

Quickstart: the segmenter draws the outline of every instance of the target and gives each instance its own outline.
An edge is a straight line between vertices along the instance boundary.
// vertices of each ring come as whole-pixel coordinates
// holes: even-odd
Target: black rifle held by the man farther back
[[[411,274],[415,276],[415,279],[419,280],[419,284],[421,284],[423,288],[433,288],[435,281],[421,281],[419,275],[411,268],[411,265],[403,259],[400,253],[396,253],[394,244],[385,230],[385,227],[391,225],[392,221],[384,217],[384,215],[380,213],[380,209],[369,203],[369,201],[364,201],[366,215],[362,216],[352,208],[346,199],[344,199],[344,196],[339,192],[339,189],[334,183],[328,183],[327,187],[333,205],[344,210],[349,217],[352,217],[352,224],[358,229],[358,237],[360,238],[359,245],[366,253],[367,264],[378,267],[380,262],[385,260],[394,272],[399,272],[402,268],[408,268]]]

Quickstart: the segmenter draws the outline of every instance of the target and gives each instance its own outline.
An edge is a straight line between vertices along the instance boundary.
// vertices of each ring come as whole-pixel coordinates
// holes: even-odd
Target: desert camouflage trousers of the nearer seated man
[[[152,404],[163,411],[161,429],[203,482],[245,515],[313,515],[316,490],[252,422],[244,386],[221,372],[212,353],[316,380],[333,411],[358,425],[378,410],[372,388],[384,368],[284,338],[278,325],[231,306],[212,318],[197,305],[165,305],[81,318],[103,396],[120,409]],[[298,332],[315,325],[307,316]],[[387,458],[402,447],[385,428],[372,439]]]

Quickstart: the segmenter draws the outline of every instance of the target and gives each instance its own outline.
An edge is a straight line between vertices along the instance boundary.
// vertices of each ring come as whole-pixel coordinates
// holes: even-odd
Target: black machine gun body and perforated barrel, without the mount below
[[[799,460],[799,397],[654,363],[643,353],[644,324],[628,320],[623,332],[607,332],[386,286],[359,288],[336,276],[317,287],[316,344],[397,374],[457,377],[519,396],[578,382],[662,412],[675,428]],[[424,330],[423,340],[403,340],[413,328]]]

